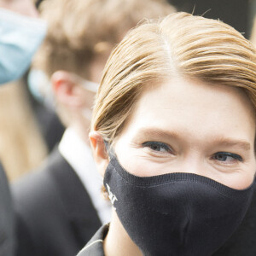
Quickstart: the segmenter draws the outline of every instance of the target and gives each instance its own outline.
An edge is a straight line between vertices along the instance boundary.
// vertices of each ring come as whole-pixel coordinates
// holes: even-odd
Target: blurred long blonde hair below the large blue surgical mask
[[[37,168],[47,156],[24,79],[0,88],[0,160],[13,182]]]

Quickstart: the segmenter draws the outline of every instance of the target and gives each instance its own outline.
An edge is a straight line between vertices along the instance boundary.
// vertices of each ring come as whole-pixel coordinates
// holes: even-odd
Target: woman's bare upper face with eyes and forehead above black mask
[[[172,79],[148,85],[114,143],[137,176],[191,172],[245,189],[256,170],[255,116],[235,87]]]

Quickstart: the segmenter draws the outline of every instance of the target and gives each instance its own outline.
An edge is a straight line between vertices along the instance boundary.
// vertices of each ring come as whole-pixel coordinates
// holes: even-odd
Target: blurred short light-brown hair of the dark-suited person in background
[[[109,54],[131,27],[175,9],[166,0],[45,0],[40,11],[49,30],[33,66],[49,77],[61,69],[90,79],[91,61]]]

